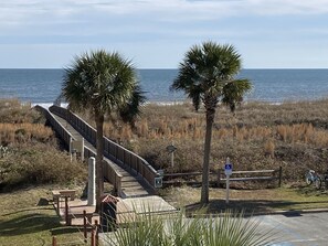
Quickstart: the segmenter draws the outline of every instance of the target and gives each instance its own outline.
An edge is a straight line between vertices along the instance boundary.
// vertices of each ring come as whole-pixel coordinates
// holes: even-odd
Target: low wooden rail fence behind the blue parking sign
[[[224,170],[220,169],[216,172],[209,173],[212,179],[210,183],[220,186],[226,181]],[[167,173],[163,174],[163,184],[201,184],[201,181],[187,180],[187,178],[201,177],[202,172],[188,172],[188,173]],[[233,171],[230,177],[230,182],[239,181],[278,181],[278,186],[282,185],[283,169],[279,167],[277,170],[252,170],[252,171]],[[176,180],[181,178],[180,180]]]

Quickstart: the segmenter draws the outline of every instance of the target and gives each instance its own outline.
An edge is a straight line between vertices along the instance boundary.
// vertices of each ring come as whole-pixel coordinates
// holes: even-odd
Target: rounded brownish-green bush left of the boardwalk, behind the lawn
[[[27,184],[82,182],[87,177],[86,165],[73,161],[55,147],[36,143],[12,146],[0,159],[0,186],[11,189]]]

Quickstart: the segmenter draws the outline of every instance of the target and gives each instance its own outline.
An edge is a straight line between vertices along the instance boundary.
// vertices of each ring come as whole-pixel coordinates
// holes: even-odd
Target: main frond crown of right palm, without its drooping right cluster
[[[221,98],[226,83],[234,81],[240,69],[241,55],[234,46],[204,42],[186,53],[170,89],[184,90],[198,109],[205,94]]]

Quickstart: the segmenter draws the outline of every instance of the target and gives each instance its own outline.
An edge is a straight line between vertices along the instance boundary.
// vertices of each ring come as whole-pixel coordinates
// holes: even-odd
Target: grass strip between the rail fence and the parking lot
[[[174,206],[200,208],[200,188],[170,188],[162,195]],[[263,190],[230,190],[230,202],[225,203],[225,189],[210,189],[208,213],[222,210],[246,210],[251,213],[272,213],[287,210],[327,208],[328,193],[314,186],[283,186]]]

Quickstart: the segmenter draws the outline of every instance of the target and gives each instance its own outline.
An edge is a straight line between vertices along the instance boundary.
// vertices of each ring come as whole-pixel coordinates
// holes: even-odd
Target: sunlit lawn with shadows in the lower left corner
[[[50,188],[29,188],[0,193],[0,245],[51,245],[56,236],[59,245],[85,245],[80,228],[60,223],[51,199]]]

